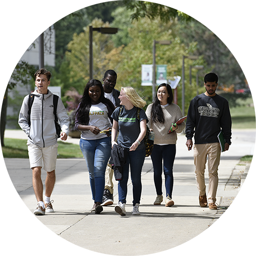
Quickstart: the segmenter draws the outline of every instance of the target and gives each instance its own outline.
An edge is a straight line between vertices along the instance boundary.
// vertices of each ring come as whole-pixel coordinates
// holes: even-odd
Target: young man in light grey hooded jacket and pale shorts
[[[39,69],[34,74],[37,90],[27,95],[19,113],[18,124],[28,135],[28,153],[30,168],[33,174],[33,188],[37,199],[35,215],[45,215],[53,212],[50,200],[55,184],[55,168],[57,160],[57,132],[54,121],[53,94],[48,90],[51,73],[46,69]],[[29,98],[33,98],[31,113],[29,113]],[[60,139],[67,140],[69,134],[69,116],[60,98],[57,101],[56,115],[61,127]],[[41,168],[47,172],[46,191],[43,200]]]

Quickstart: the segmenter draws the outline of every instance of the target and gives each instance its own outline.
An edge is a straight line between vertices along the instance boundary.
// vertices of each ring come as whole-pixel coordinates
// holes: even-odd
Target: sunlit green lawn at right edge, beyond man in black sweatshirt
[[[256,94],[240,103],[244,105],[230,108],[232,129],[256,129]]]

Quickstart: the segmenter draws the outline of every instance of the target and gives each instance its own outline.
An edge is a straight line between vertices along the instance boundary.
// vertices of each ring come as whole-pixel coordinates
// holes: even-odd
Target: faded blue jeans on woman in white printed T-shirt
[[[95,203],[102,203],[105,169],[111,153],[111,137],[97,140],[80,139],[80,148],[89,170],[93,200]]]

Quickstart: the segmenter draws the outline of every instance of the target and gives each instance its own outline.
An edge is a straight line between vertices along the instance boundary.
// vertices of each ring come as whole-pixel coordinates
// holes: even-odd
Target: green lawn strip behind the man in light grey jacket
[[[4,147],[0,147],[0,157],[28,158],[27,140],[4,139]],[[83,158],[79,145],[58,141],[57,158]]]

